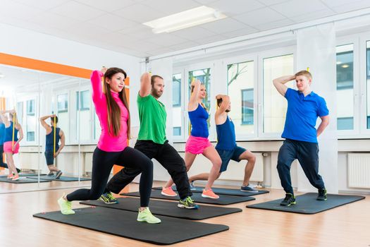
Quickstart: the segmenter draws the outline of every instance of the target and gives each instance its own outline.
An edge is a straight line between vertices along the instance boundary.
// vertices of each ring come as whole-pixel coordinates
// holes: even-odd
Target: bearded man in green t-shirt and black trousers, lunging
[[[180,195],[178,207],[197,209],[198,205],[191,198],[192,193],[185,162],[166,139],[166,109],[164,104],[158,100],[164,92],[164,78],[144,73],[140,81],[140,91],[137,95],[140,131],[135,149],[147,155],[149,159],[156,159],[167,169]],[[100,199],[104,203],[118,203],[111,192],[120,193],[140,172],[140,169],[129,167],[121,169],[109,181],[106,193],[101,195]]]

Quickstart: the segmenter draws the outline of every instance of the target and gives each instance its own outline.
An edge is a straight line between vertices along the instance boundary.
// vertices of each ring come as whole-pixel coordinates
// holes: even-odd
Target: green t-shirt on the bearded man
[[[166,141],[166,109],[153,95],[141,97],[137,94],[140,131],[137,140],[152,140],[164,144]]]

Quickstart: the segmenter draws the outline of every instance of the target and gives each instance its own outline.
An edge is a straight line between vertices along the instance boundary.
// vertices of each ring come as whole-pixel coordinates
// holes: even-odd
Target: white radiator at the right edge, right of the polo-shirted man
[[[348,187],[370,188],[370,153],[348,154]]]

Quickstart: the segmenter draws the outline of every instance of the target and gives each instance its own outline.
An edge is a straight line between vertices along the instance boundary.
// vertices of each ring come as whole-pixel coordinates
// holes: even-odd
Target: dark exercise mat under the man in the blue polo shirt
[[[303,195],[297,195],[295,205],[289,207],[280,206],[280,202],[283,198],[278,200],[271,200],[266,203],[257,203],[247,205],[250,208],[257,208],[261,210],[276,210],[283,212],[296,212],[299,214],[313,215],[318,212],[330,210],[334,207],[339,207],[347,203],[354,203],[357,200],[362,200],[365,197],[362,195],[332,195],[328,194],[328,200],[316,200],[317,193],[306,193]]]

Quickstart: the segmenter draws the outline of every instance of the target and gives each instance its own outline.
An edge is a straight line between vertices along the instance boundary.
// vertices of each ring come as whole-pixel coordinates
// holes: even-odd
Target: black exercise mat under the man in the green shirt
[[[117,198],[118,204],[106,204],[101,200],[82,201],[81,204],[92,205],[99,207],[109,207],[118,210],[128,210],[137,212],[140,207],[139,198]],[[240,208],[236,207],[216,207],[201,205],[197,210],[187,210],[177,206],[178,203],[167,202],[164,200],[150,200],[149,208],[154,215],[164,215],[180,219],[208,219],[221,215],[229,215],[235,212],[242,212]]]

